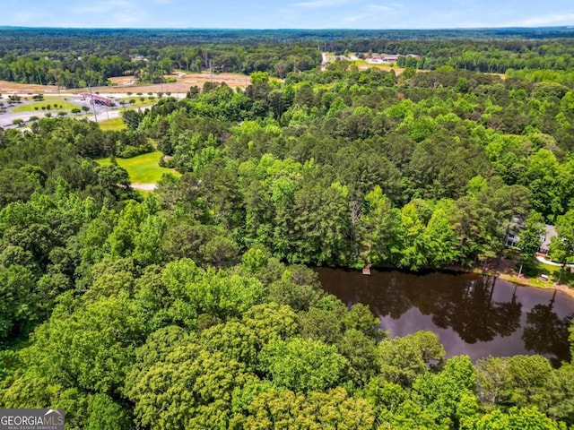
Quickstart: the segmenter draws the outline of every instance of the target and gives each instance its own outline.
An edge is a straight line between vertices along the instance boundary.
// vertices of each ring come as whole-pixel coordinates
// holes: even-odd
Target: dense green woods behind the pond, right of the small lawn
[[[572,209],[572,94],[452,68],[397,78],[332,64],[284,85],[265,73],[245,91],[207,84],[126,122],[184,174],[161,181],[164,207],[230,229],[240,247],[416,270],[485,261],[515,219]]]

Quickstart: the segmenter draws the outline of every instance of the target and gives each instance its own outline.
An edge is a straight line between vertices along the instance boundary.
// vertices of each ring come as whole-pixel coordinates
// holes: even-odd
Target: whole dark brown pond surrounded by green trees
[[[390,336],[433,331],[447,356],[541,354],[557,366],[570,359],[574,299],[474,273],[316,269],[323,288],[347,305],[370,305]]]

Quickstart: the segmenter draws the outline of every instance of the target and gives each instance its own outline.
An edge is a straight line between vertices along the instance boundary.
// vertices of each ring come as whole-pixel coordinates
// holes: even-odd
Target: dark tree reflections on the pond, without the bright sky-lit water
[[[348,305],[361,302],[370,305],[375,314],[395,320],[416,307],[422,315],[431,315],[439,328],[451,328],[469,344],[510,336],[520,328],[522,304],[517,288],[509,289],[508,284],[497,287],[493,277],[445,273],[421,276],[396,271],[375,272],[368,277],[356,272],[344,272],[342,276],[341,271],[321,271],[327,289]],[[501,291],[494,294],[497,288]],[[501,293],[509,298],[500,301]],[[553,305],[554,297],[549,305],[535,305],[526,314],[522,340],[526,349],[550,357],[555,365],[569,359],[568,327],[574,314],[560,318]],[[408,315],[421,318],[418,312]],[[423,319],[420,324],[410,321],[409,325],[422,327],[427,317]]]

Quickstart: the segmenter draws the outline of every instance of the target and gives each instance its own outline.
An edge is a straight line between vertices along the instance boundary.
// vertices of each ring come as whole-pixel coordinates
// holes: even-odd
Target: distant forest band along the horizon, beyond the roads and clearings
[[[538,30],[10,30],[0,29],[0,80],[65,88],[135,75],[163,82],[174,70],[287,73],[313,69],[321,50],[399,55],[397,65],[450,65],[535,74],[571,86],[574,31]],[[409,56],[412,55],[412,56]]]

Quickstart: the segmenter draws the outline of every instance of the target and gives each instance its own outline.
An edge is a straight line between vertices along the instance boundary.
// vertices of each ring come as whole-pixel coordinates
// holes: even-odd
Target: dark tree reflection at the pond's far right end
[[[526,327],[522,334],[525,348],[536,354],[550,355],[552,365],[570,360],[568,328],[574,314],[560,318],[553,310],[556,291],[548,305],[535,305],[526,314]]]

